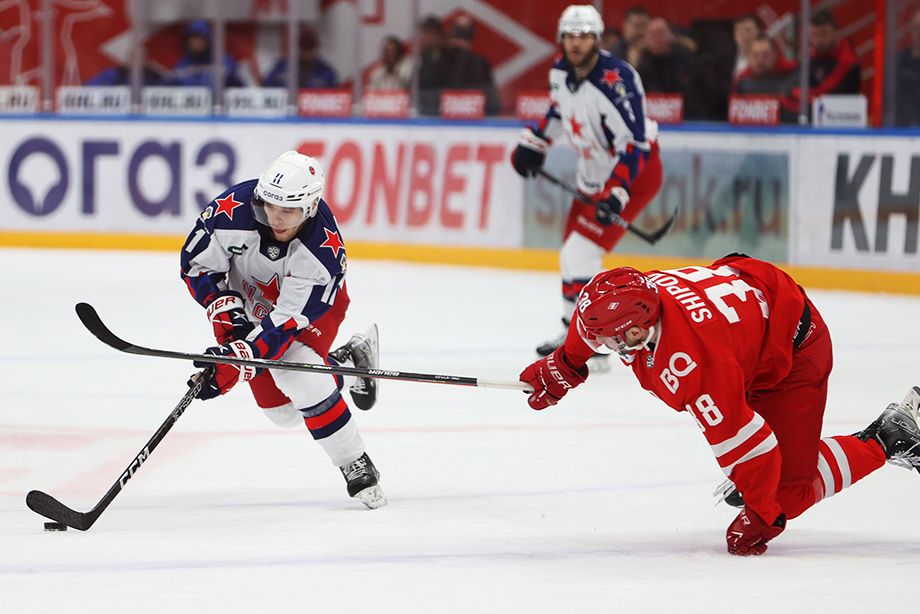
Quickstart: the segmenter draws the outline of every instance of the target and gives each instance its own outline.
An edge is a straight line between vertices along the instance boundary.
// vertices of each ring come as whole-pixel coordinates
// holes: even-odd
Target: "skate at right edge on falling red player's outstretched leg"
[[[911,388],[904,400],[892,403],[865,430],[856,433],[863,441],[874,439],[892,465],[920,471],[920,386]]]

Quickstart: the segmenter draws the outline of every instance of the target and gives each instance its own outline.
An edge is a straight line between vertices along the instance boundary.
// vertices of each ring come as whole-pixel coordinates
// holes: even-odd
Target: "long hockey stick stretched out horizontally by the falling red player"
[[[313,373],[327,373],[329,375],[354,375],[357,377],[373,377],[377,379],[395,379],[408,382],[428,382],[431,384],[452,384],[455,386],[472,386],[478,388],[504,388],[508,390],[523,390],[532,392],[529,385],[523,382],[505,380],[488,380],[476,377],[461,377],[459,375],[436,375],[431,373],[410,373],[408,371],[393,371],[383,369],[359,369],[357,367],[342,367],[332,365],[319,365],[305,362],[286,362],[283,360],[268,360],[265,358],[236,358],[234,356],[214,356],[212,354],[191,354],[187,352],[173,352],[171,350],[157,350],[140,345],[128,343],[118,337],[102,322],[95,308],[88,303],[77,303],[77,316],[89,332],[108,346],[120,352],[138,354],[140,356],[157,356],[159,358],[177,358],[179,360],[197,360],[213,364],[240,365],[258,367],[261,369],[280,369],[283,371],[307,371]]]

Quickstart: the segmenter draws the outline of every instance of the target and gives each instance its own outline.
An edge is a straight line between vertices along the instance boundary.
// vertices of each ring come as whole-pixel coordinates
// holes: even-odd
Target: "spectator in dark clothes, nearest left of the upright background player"
[[[475,28],[468,15],[454,19],[444,51],[447,89],[480,90],[486,97],[486,113],[498,112],[498,92],[492,81],[492,67],[484,57],[473,51]]]

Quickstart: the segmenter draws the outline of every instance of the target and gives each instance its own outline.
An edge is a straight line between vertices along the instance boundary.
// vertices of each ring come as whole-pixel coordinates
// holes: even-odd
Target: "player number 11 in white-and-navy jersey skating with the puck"
[[[376,325],[330,354],[348,308],[345,245],[322,199],[319,161],[288,151],[202,212],[182,249],[182,278],[207,310],[220,344],[209,354],[376,368]],[[197,364],[196,366],[205,366]],[[305,423],[345,477],[349,496],[386,504],[379,473],[340,394],[341,377],[215,365],[199,393],[211,399],[240,380],[275,424]],[[358,378],[352,399],[370,409],[377,382]]]

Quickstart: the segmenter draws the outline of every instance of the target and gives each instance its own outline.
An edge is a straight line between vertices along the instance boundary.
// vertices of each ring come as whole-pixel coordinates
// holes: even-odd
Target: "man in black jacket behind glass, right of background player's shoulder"
[[[684,118],[703,119],[703,79],[696,58],[677,44],[668,22],[656,17],[645,33],[645,51],[636,66],[645,91],[681,94],[684,97]]]

